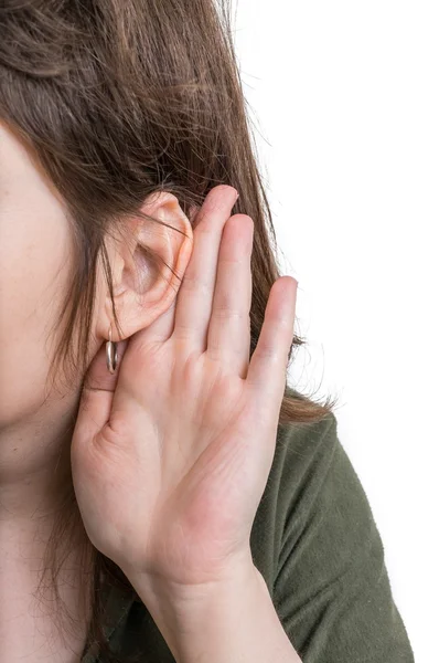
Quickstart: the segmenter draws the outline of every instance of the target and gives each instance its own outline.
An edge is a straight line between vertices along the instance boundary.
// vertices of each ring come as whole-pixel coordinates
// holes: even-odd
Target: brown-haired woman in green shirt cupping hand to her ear
[[[285,381],[226,8],[1,21],[0,659],[413,662],[335,401]]]

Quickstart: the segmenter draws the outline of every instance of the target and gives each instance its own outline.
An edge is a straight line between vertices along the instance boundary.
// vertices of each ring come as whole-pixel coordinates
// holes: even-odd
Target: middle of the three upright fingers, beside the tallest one
[[[234,214],[224,227],[206,350],[243,379],[250,351],[253,234],[246,214]]]

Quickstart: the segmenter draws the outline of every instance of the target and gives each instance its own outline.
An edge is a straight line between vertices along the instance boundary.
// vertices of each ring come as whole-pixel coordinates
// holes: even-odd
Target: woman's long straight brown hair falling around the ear
[[[50,375],[69,381],[86,372],[96,266],[101,259],[113,299],[104,240],[120,219],[139,214],[144,199],[159,190],[174,193],[189,215],[220,183],[237,189],[235,213],[248,214],[255,227],[253,354],[280,273],[227,2],[3,0],[0,17],[0,119],[29,146],[61,194],[75,242],[74,273],[56,329],[65,324]],[[143,250],[157,261],[148,246]],[[114,315],[120,332],[115,307]],[[289,361],[293,346],[304,343],[295,333]],[[320,421],[335,403],[329,398],[319,403],[286,385],[279,423]],[[74,533],[88,540],[81,525],[72,485],[45,558],[44,573],[51,572],[57,597],[62,559],[58,565],[56,559],[62,547],[65,554],[72,548]],[[99,643],[101,660],[119,661],[101,628],[100,588],[132,588],[89,541],[84,550],[84,573],[93,569],[84,598],[92,612],[88,639]]]

